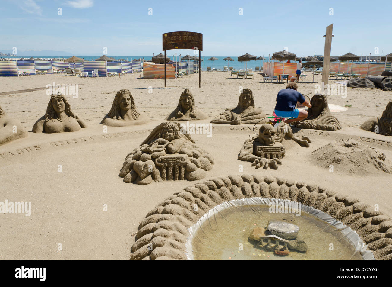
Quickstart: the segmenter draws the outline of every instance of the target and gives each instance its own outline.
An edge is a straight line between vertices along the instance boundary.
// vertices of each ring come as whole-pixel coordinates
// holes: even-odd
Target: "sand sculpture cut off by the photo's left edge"
[[[21,137],[27,137],[22,123],[11,119],[0,106],[0,145]]]

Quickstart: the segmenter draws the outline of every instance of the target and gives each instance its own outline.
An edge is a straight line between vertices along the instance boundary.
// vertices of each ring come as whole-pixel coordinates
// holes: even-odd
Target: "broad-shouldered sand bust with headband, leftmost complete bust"
[[[58,93],[51,95],[45,115],[35,122],[33,132],[75,132],[80,128],[87,128],[87,124],[71,110],[71,105],[64,95]]]

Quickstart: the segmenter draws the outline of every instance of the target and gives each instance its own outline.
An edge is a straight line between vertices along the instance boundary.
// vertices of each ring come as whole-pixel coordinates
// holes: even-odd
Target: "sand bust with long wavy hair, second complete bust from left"
[[[131,124],[144,124],[149,121],[150,119],[145,113],[136,110],[131,91],[123,89],[117,92],[112,108],[102,119],[101,124],[107,126],[130,126]]]

